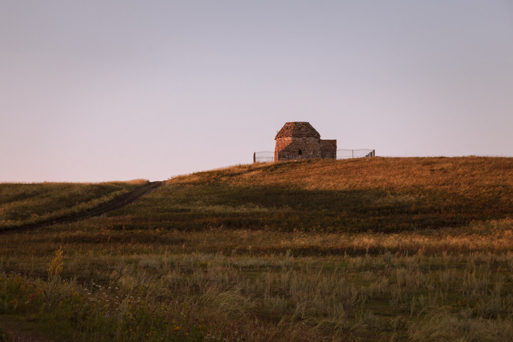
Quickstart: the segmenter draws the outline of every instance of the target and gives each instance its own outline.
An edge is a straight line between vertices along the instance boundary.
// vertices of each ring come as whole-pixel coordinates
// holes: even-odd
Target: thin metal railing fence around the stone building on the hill
[[[333,158],[332,151],[308,151],[303,150],[299,154],[297,152],[287,152],[286,155],[280,156],[280,160],[298,160],[298,159],[314,159],[314,158]],[[376,150],[373,149],[340,149],[337,150],[337,159],[350,159],[350,158],[368,158],[376,156]],[[274,162],[274,151],[258,151],[253,153],[253,163],[269,163]]]

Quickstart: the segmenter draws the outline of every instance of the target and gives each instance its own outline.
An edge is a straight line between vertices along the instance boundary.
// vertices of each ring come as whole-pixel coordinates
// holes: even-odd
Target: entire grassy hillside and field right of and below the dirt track
[[[375,157],[175,177],[101,217],[0,236],[0,328],[511,340],[512,171],[511,158]]]

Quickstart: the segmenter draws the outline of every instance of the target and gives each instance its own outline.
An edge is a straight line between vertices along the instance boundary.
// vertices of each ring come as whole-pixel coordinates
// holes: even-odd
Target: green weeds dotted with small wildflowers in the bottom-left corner
[[[56,281],[57,280],[57,281]],[[29,280],[0,276],[0,312],[23,315],[49,336],[80,340],[198,340],[201,332],[176,316],[170,305],[150,306],[138,296],[53,277]],[[177,320],[173,320],[177,319]]]

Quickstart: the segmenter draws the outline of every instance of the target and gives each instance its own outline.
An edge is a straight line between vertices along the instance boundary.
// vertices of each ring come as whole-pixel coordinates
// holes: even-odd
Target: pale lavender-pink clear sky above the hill
[[[513,155],[513,1],[0,0],[0,182],[252,162],[285,122]]]

